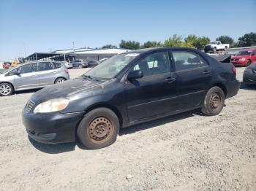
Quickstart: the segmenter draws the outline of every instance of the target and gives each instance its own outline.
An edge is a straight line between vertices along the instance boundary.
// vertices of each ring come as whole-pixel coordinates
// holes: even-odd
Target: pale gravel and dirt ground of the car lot
[[[242,84],[218,116],[136,125],[99,150],[29,141],[20,114],[33,93],[0,98],[0,190],[256,190],[256,87]]]

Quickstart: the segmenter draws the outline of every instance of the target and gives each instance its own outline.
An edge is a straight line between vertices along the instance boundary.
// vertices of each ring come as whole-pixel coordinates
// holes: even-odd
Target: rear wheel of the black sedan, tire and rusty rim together
[[[214,86],[206,93],[201,112],[208,116],[219,114],[225,104],[225,95],[220,87]]]

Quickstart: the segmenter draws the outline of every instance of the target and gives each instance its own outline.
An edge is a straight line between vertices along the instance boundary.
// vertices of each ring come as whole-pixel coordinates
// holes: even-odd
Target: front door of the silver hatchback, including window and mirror
[[[29,63],[18,67],[19,75],[15,75],[15,85],[17,89],[28,89],[39,86],[37,63]]]

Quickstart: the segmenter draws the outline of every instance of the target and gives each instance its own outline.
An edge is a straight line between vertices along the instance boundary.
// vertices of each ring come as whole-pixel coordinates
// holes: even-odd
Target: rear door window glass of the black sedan
[[[176,71],[207,66],[206,61],[194,52],[174,51],[172,54]]]

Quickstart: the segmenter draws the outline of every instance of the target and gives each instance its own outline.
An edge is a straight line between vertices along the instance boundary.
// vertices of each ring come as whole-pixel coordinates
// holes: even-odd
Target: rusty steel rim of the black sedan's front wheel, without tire
[[[106,117],[97,117],[87,128],[89,139],[94,143],[105,143],[113,135],[113,124]]]

